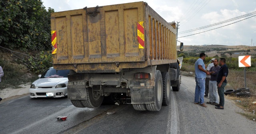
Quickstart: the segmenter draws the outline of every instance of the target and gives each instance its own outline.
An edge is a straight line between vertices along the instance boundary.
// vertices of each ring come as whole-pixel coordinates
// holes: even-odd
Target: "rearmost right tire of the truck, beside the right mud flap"
[[[163,80],[159,70],[156,70],[154,82],[155,102],[146,104],[146,108],[150,111],[159,111],[162,107],[163,101]]]

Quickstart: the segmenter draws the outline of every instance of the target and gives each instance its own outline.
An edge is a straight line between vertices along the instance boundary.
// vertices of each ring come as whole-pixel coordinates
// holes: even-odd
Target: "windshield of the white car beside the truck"
[[[55,70],[50,68],[46,70],[40,78],[62,78],[68,77],[69,70]]]

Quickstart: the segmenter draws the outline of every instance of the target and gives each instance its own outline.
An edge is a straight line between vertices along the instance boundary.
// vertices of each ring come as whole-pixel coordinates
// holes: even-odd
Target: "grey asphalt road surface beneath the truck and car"
[[[238,114],[241,109],[232,101],[225,100],[224,110],[194,104],[194,87],[193,78],[182,76],[180,91],[172,91],[171,104],[159,112],[137,111],[130,104],[76,108],[67,98],[12,99],[0,103],[0,134],[256,133],[255,122]]]

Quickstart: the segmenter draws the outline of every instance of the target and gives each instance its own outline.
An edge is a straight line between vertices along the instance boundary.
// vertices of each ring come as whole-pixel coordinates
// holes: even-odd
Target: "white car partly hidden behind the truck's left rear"
[[[50,67],[39,79],[34,81],[29,89],[31,98],[65,97],[68,95],[68,73],[70,70],[55,70]]]

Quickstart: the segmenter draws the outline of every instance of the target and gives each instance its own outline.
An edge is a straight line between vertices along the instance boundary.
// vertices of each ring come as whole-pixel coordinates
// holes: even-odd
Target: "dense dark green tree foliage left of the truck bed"
[[[50,13],[41,0],[0,1],[0,45],[22,51],[50,50]]]

